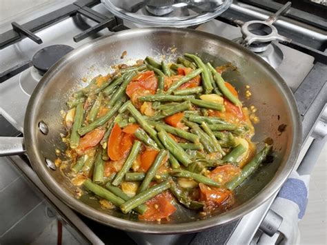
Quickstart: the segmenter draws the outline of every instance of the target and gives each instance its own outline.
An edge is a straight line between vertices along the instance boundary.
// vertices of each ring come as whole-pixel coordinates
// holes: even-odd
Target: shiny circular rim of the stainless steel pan
[[[36,148],[36,137],[33,134],[35,132],[35,125],[37,122],[35,121],[36,117],[36,108],[37,108],[37,101],[38,97],[41,96],[41,91],[48,81],[50,81],[52,73],[57,72],[60,70],[61,66],[64,66],[66,62],[69,61],[70,58],[77,55],[84,49],[88,49],[97,43],[101,43],[104,40],[110,37],[121,37],[123,35],[132,35],[133,33],[139,34],[139,32],[143,32],[143,35],[146,35],[148,32],[184,32],[184,33],[193,33],[197,35],[201,35],[204,37],[208,37],[209,39],[213,39],[215,41],[223,41],[228,45],[232,46],[233,48],[239,50],[246,55],[249,55],[251,59],[262,64],[262,60],[257,55],[250,52],[246,48],[237,45],[237,43],[233,43],[228,39],[224,39],[223,37],[218,37],[216,35],[212,35],[208,32],[201,32],[199,30],[188,30],[184,28],[135,28],[132,30],[123,30],[121,32],[117,32],[113,35],[106,35],[99,39],[95,39],[90,41],[89,43],[83,44],[79,48],[73,50],[72,52],[68,53],[65,57],[60,59],[48,72],[46,75],[41,79],[37,87],[34,89],[32,96],[30,97],[30,101],[28,102],[26,117],[24,120],[24,137],[26,141],[26,150],[28,153],[28,157],[30,158],[30,162],[32,164],[32,168],[37,173],[43,184],[45,184],[49,190],[60,197],[60,199],[73,208],[77,210],[77,212],[85,215],[90,219],[94,219],[97,222],[102,224],[106,224],[108,226],[112,226],[114,228],[119,228],[123,231],[132,231],[132,232],[140,232],[140,233],[154,233],[154,234],[175,234],[175,233],[194,233],[199,231],[204,231],[208,228],[212,228],[213,226],[218,226],[221,224],[227,224],[244,215],[250,213],[255,208],[261,206],[264,202],[266,202],[274,193],[281,188],[282,184],[286,181],[288,175],[292,172],[295,162],[297,160],[297,156],[299,155],[299,150],[301,148],[301,120],[300,115],[297,110],[297,104],[293,93],[291,92],[290,88],[287,86],[284,79],[280,77],[280,75],[268,64],[262,64],[264,68],[267,70],[268,74],[272,77],[272,79],[279,81],[279,86],[283,92],[284,97],[288,101],[288,107],[291,112],[291,119],[293,121],[293,140],[292,145],[290,147],[290,155],[288,155],[288,159],[284,161],[285,166],[283,171],[279,173],[279,175],[273,177],[270,182],[255,195],[252,199],[249,199],[244,204],[237,206],[236,208],[232,208],[228,210],[226,213],[221,215],[217,215],[215,217],[209,217],[207,219],[189,222],[189,223],[180,223],[180,224],[153,224],[153,223],[142,223],[142,222],[133,222],[126,219],[121,219],[118,217],[113,217],[108,214],[102,213],[95,208],[88,206],[87,204],[83,204],[78,199],[75,199],[71,195],[68,194],[65,190],[62,190],[57,186],[57,182],[52,179],[51,175],[48,173],[46,166],[43,164],[43,161],[38,153]]]

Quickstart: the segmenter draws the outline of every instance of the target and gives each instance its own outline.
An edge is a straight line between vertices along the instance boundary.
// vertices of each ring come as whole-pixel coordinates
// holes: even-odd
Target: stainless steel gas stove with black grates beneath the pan
[[[322,142],[326,141],[326,25],[318,17],[313,24],[306,12],[289,8],[289,3],[283,6],[274,1],[241,1],[232,3],[216,19],[192,28],[241,43],[270,63],[284,78],[295,95],[303,124],[303,145],[296,168],[302,173],[310,173],[315,159],[308,156],[319,152]],[[122,21],[99,1],[91,0],[71,3],[41,17],[36,15],[35,19],[23,25],[12,23],[12,30],[0,35],[1,128],[12,126],[14,130],[10,135],[23,133],[23,118],[30,95],[43,73],[56,61],[49,60],[49,54],[55,52],[58,55],[60,51],[64,55],[97,37],[136,27],[139,25]],[[269,34],[270,39],[262,39]],[[57,51],[59,45],[61,48]],[[8,130],[1,133],[4,136]],[[201,233],[125,233],[93,222],[68,208],[43,186],[27,157],[14,156],[7,160],[33,183],[57,217],[82,243],[255,244],[262,233],[274,235],[282,221],[282,217],[272,215],[269,209],[275,199],[272,197],[241,219]]]

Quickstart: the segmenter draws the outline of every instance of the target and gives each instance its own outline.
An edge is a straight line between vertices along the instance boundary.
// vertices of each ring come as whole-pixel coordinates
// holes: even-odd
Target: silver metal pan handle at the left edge
[[[0,137],[0,157],[25,153],[23,137]]]

